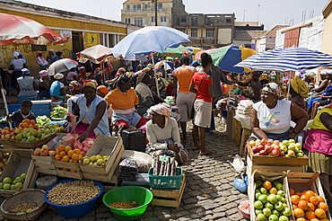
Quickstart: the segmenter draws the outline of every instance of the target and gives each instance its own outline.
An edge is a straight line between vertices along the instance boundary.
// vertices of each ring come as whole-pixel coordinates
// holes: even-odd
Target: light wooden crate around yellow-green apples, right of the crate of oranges
[[[109,155],[109,160],[101,166],[83,164],[81,161],[83,177],[94,181],[110,181],[124,152],[121,137],[98,136],[85,156]]]

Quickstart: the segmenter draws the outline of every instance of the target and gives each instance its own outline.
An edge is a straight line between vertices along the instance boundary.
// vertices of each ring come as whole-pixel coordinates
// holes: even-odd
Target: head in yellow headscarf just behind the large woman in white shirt
[[[293,103],[296,103],[303,110],[307,110],[304,99],[308,97],[308,93],[309,89],[307,84],[305,84],[304,81],[302,81],[299,76],[295,76],[291,80],[291,88],[290,88],[291,101]]]

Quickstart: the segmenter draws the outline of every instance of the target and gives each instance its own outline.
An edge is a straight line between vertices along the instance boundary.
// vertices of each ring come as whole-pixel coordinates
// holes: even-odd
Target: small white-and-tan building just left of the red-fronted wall
[[[266,31],[266,33],[258,36],[256,39],[252,40],[252,43],[255,45],[255,49],[258,52],[266,51],[268,49],[275,49],[275,36],[276,31],[288,27],[287,25],[275,25],[275,27]]]

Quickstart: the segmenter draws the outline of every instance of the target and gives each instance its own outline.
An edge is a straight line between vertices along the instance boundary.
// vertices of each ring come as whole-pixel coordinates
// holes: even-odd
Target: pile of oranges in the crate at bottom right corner
[[[295,192],[290,189],[290,193],[296,221],[328,221],[328,204],[323,197],[312,190]]]

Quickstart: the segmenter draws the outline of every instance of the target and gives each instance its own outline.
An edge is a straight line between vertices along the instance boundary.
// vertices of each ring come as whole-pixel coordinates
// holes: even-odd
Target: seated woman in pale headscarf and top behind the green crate
[[[179,139],[178,122],[170,118],[170,107],[166,103],[159,103],[147,110],[151,118],[146,123],[146,135],[149,140],[146,153],[156,157],[170,155],[175,157],[179,165],[188,159],[187,150]]]

